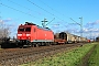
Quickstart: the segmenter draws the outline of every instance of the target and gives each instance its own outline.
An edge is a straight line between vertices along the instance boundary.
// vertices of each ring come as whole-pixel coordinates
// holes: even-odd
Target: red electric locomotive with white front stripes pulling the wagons
[[[19,25],[16,38],[20,47],[24,45],[48,45],[54,42],[54,33],[48,28],[41,28],[34,23],[25,22],[25,24]]]

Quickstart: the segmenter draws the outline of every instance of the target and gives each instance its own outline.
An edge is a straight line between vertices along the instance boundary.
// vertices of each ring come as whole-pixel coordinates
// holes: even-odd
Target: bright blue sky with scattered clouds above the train
[[[66,31],[80,36],[82,32],[84,37],[97,37],[99,0],[0,0],[0,22],[10,26],[11,36],[16,36],[20,24],[28,21],[42,26],[44,19],[54,33]]]

